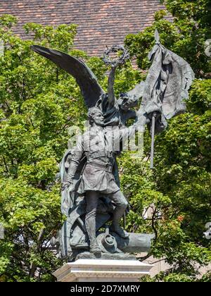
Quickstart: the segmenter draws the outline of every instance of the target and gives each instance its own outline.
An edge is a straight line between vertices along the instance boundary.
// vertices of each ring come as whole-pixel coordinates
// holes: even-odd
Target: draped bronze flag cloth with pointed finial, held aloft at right
[[[152,65],[146,78],[140,111],[149,119],[155,111],[159,114],[155,122],[155,133],[158,133],[167,127],[168,119],[186,110],[185,100],[195,75],[191,66],[163,47],[159,39],[148,58]]]

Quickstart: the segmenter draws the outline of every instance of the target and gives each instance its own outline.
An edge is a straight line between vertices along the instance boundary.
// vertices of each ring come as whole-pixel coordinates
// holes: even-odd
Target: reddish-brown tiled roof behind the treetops
[[[75,47],[100,56],[106,45],[122,44],[129,33],[153,23],[160,0],[0,0],[0,16],[18,16],[15,33],[25,37],[25,23],[78,25]]]

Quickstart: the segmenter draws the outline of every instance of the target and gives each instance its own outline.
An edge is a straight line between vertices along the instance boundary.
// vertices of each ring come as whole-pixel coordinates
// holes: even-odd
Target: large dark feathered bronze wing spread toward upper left
[[[98,84],[94,73],[83,61],[65,54],[62,51],[48,49],[38,45],[32,46],[31,49],[37,52],[37,54],[53,61],[53,63],[56,63],[57,66],[70,73],[75,78],[88,108],[96,105],[96,101],[101,97],[101,94],[104,94],[104,91]]]

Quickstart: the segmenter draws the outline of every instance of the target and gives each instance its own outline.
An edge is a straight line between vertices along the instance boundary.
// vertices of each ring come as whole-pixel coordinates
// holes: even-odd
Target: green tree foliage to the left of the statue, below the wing
[[[81,125],[84,104],[75,80],[30,45],[63,51],[72,49],[75,25],[25,25],[34,42],[15,36],[16,19],[0,19],[0,274],[4,280],[52,280],[60,261],[49,240],[56,234],[60,214],[58,164],[67,147],[67,128]],[[84,56],[83,53],[76,52]]]

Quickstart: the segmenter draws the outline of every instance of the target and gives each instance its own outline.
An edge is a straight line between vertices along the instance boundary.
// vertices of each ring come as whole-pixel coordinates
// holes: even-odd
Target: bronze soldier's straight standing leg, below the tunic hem
[[[87,233],[90,241],[90,252],[94,254],[101,253],[96,242],[96,208],[98,205],[98,192],[87,191],[86,192],[87,202],[87,214],[85,218]]]

